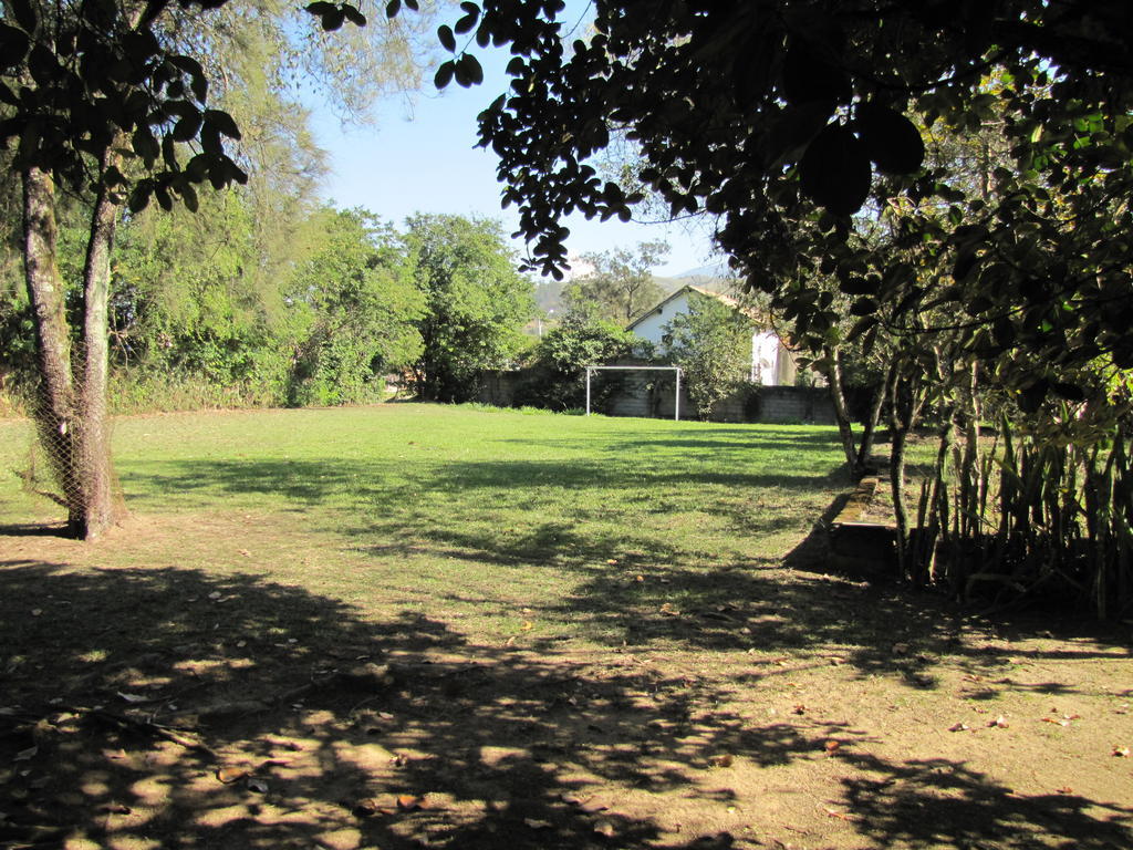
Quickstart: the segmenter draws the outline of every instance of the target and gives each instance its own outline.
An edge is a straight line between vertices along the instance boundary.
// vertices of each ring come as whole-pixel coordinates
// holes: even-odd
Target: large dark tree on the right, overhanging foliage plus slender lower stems
[[[948,525],[971,534],[963,545],[981,556],[991,546],[1010,576],[997,576],[1004,586],[1063,580],[1071,573],[1062,568],[1040,568],[1025,585],[1020,577],[1025,564],[1063,563],[1092,539],[1067,586],[1091,588],[1099,612],[1115,586],[1128,604],[1128,511],[1102,507],[1110,496],[1097,494],[1128,486],[1133,431],[1119,389],[1133,368],[1128,5],[599,0],[595,8],[593,37],[570,48],[560,37],[561,2],[469,3],[458,22],[478,44],[509,43],[517,54],[511,88],[482,114],[480,139],[500,156],[504,201],[520,207],[534,263],[560,273],[565,213],[630,218],[642,196],[604,182],[590,160],[613,137],[632,141],[637,181],[674,215],[718,216],[718,243],[750,286],[772,296],[798,345],[819,356],[846,341],[866,352],[883,347],[906,577],[930,575],[921,555],[931,559],[934,535]],[[467,50],[449,46],[454,56],[437,84],[475,82]],[[989,77],[998,83],[989,87]],[[926,163],[910,114],[957,137],[995,125],[1007,164],[972,184]],[[854,218],[863,209],[887,221],[884,244]],[[948,433],[978,425],[978,381],[993,382],[1026,424],[1028,457],[1043,458],[1032,468],[1062,469],[1062,484],[1032,498],[1005,478],[1005,501],[989,518],[982,496],[951,502],[947,476],[938,475],[913,545],[902,507],[904,435],[921,411],[943,415],[943,469]],[[1066,441],[1077,453],[1058,454]],[[1075,478],[1082,468],[1088,486]],[[1080,520],[1059,492],[1097,509]],[[1038,525],[1063,529],[1056,543],[1043,543],[1030,519],[1040,516]],[[981,542],[981,524],[997,528],[994,545]],[[953,586],[966,592],[970,575],[957,569]]]

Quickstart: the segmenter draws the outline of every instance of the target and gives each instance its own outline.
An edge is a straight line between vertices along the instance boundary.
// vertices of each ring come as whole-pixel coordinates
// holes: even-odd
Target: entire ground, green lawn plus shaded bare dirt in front
[[[123,418],[94,546],[8,475],[27,441],[0,847],[1133,843],[1127,626],[829,575],[830,428]]]

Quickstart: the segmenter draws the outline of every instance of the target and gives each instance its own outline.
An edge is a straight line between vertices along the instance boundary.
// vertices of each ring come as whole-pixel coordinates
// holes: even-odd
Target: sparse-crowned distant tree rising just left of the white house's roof
[[[566,288],[568,307],[593,301],[604,318],[629,324],[664,295],[665,290],[653,278],[653,269],[666,254],[668,245],[662,241],[639,243],[632,252],[615,248],[583,254],[582,263],[590,271]]]

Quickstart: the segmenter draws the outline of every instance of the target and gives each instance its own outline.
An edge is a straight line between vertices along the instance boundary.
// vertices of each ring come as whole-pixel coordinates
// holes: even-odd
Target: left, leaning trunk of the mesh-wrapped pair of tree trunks
[[[67,505],[71,530],[84,529],[80,482],[75,474],[75,380],[67,326],[67,291],[56,264],[58,226],[50,175],[27,168],[24,188],[24,278],[35,313],[40,382],[33,416],[56,483]]]

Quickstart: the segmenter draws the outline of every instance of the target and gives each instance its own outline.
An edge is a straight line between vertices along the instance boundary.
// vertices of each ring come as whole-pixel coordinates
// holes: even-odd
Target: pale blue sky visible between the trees
[[[475,146],[476,116],[506,90],[503,68],[510,54],[488,49],[477,57],[484,66],[483,85],[466,90],[452,83],[438,93],[431,73],[411,104],[399,97],[378,103],[374,126],[344,128],[334,113],[316,105],[315,135],[330,154],[326,199],[340,207],[366,207],[394,223],[417,212],[455,213],[499,219],[506,233],[517,230],[514,206],[500,206],[496,156]],[[679,224],[587,221],[581,215],[564,223],[571,230],[571,256],[663,240],[671,250],[656,274],[675,275],[718,262],[702,226],[700,232],[690,232]],[[514,240],[513,247],[525,254],[522,240]]]

